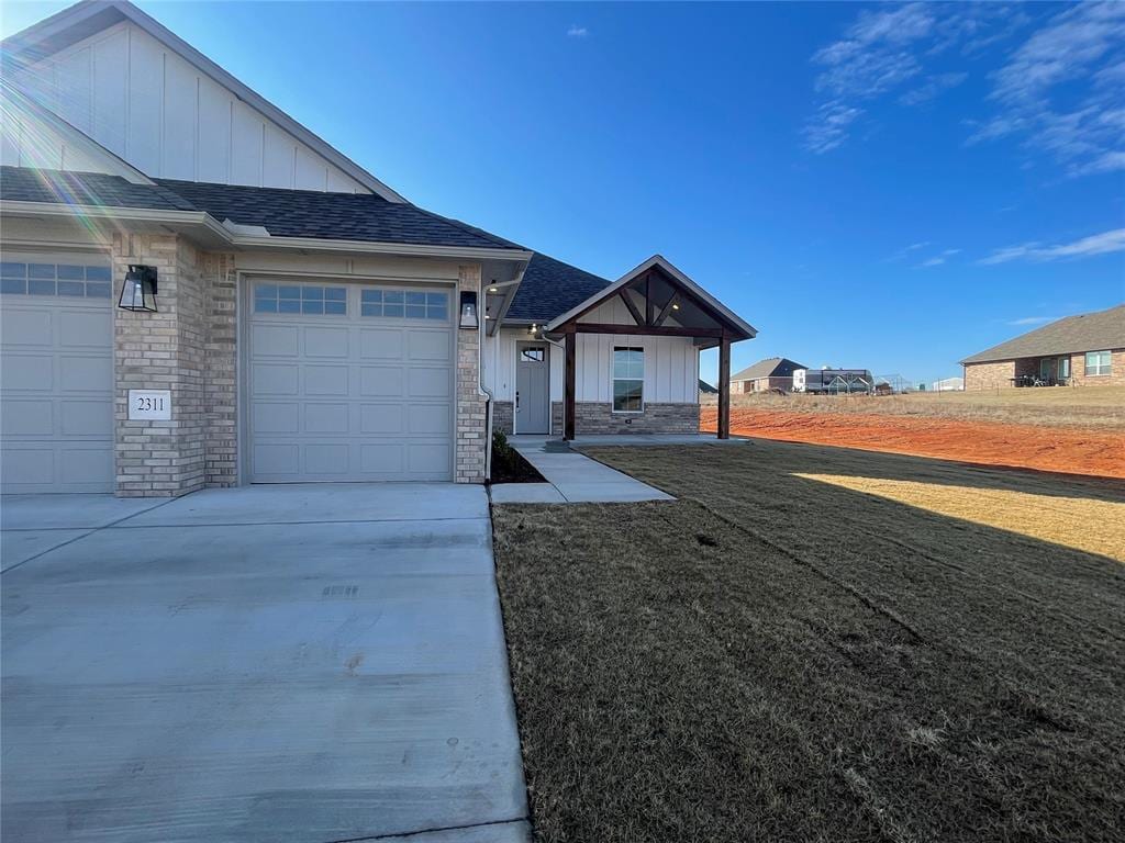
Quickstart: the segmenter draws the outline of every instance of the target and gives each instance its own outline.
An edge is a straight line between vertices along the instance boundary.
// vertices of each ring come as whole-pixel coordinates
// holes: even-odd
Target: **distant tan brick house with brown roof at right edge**
[[[1068,316],[961,364],[965,389],[1125,384],[1125,303]]]

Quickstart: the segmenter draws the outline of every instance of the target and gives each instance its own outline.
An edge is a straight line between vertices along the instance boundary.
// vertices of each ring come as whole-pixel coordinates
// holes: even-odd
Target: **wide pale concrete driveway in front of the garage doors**
[[[0,515],[4,840],[528,840],[482,488]]]

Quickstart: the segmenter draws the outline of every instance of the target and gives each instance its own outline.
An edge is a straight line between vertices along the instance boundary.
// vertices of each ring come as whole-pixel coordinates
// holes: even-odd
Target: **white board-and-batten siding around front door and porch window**
[[[622,310],[624,306],[621,305]],[[595,311],[596,312],[596,311]],[[628,316],[628,311],[626,311]],[[594,321],[594,319],[591,319]],[[631,321],[631,320],[630,320]],[[515,398],[516,343],[528,339],[523,329],[505,328],[485,346],[485,384],[497,401]],[[613,347],[645,350],[645,400],[659,404],[695,404],[699,400],[699,350],[685,337],[579,334],[575,347],[575,398],[578,401],[612,400]],[[550,346],[551,400],[562,400],[561,348]]]

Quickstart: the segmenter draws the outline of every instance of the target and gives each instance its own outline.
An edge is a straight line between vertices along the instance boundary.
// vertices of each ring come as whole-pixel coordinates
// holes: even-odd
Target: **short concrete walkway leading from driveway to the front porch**
[[[546,483],[492,487],[494,504],[621,504],[675,500],[640,480],[569,450],[559,439],[512,436],[508,443],[539,471]]]

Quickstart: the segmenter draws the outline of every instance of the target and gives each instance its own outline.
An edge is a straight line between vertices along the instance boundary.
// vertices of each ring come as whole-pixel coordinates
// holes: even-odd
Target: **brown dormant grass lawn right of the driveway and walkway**
[[[1125,484],[780,442],[591,453],[678,500],[494,511],[540,840],[1123,839],[1125,547],[1025,516],[1125,522]]]

